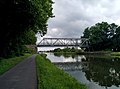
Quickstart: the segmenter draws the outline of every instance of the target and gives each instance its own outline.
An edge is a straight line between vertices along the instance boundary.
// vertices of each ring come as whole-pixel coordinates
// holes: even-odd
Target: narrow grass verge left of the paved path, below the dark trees
[[[30,54],[26,54],[25,56],[21,56],[21,57],[14,57],[14,58],[0,60],[0,75],[2,75],[6,71],[14,67],[16,64],[18,64],[28,56],[30,56]]]

